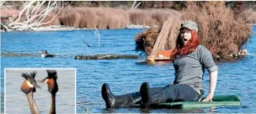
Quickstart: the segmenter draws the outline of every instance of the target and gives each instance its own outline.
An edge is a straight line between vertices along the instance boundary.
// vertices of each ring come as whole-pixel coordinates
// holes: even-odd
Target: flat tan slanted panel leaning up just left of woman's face
[[[156,55],[160,50],[174,50],[179,35],[181,20],[176,17],[169,17],[164,22],[163,28],[156,39],[151,55]]]

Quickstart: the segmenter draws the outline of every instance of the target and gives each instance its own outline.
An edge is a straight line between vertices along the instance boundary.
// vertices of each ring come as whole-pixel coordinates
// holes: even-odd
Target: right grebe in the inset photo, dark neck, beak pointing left
[[[40,83],[47,83],[48,86],[48,91],[51,93],[51,109],[49,114],[56,114],[55,110],[55,96],[56,93],[58,92],[58,75],[55,70],[47,70],[47,77],[44,78],[43,80],[38,80],[37,82]]]

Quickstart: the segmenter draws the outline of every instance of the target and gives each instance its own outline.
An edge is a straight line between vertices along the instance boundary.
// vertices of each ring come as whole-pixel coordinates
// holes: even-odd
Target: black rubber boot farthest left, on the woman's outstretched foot
[[[132,105],[141,101],[141,95],[139,92],[115,96],[111,93],[107,83],[104,83],[102,86],[101,95],[106,102],[107,108],[130,108]]]

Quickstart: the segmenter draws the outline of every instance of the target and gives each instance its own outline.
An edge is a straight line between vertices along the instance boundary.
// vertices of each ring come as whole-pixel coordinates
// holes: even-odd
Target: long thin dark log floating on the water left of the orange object
[[[77,55],[75,60],[115,60],[115,59],[137,59],[136,55],[121,54],[95,54],[95,55]]]

